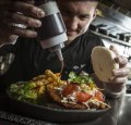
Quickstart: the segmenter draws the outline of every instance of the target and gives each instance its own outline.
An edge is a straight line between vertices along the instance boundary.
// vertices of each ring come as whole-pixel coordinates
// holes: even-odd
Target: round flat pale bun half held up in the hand
[[[115,61],[116,54],[111,50],[95,47],[91,57],[94,72],[102,82],[108,83],[114,78],[112,70],[119,68],[119,64]]]

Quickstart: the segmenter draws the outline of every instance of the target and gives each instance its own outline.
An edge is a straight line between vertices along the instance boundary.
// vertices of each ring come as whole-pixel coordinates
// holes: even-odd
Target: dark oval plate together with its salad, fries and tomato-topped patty
[[[85,72],[70,72],[62,80],[59,73],[47,70],[29,82],[11,84],[7,93],[15,111],[49,122],[87,122],[110,110],[104,93]]]

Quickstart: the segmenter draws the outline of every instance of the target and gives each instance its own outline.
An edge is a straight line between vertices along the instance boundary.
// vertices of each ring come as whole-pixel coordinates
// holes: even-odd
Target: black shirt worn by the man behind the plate
[[[63,79],[70,71],[80,68],[93,73],[91,52],[95,46],[104,46],[98,36],[86,32],[72,43],[62,49],[64,59]],[[29,80],[34,76],[44,74],[45,70],[60,72],[61,63],[56,53],[43,49],[36,39],[19,38],[14,46],[4,48],[3,51],[15,54],[14,61],[8,72],[0,76],[0,84],[8,85],[20,80]]]

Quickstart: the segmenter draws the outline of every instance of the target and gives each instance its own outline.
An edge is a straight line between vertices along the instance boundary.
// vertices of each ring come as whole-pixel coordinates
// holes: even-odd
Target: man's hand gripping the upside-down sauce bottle
[[[0,0],[0,45],[17,36],[34,38],[37,33],[21,27],[40,27],[45,13],[34,5],[34,0]],[[19,26],[17,26],[19,24]]]

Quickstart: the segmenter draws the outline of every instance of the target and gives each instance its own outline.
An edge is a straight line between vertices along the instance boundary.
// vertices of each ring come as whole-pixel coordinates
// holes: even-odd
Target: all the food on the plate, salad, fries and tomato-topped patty
[[[103,110],[109,108],[105,96],[86,73],[71,72],[67,80],[59,73],[46,70],[29,82],[12,84],[9,92],[20,101],[41,104],[43,97],[68,109]]]

